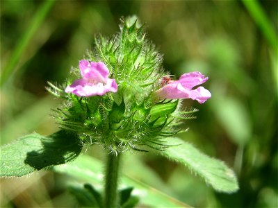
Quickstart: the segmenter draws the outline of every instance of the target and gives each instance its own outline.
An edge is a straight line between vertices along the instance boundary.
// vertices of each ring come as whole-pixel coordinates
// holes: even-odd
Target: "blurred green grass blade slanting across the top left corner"
[[[54,2],[55,2],[54,0],[44,1],[44,3],[42,3],[42,6],[38,9],[36,14],[34,15],[33,21],[31,22],[30,26],[26,29],[25,33],[19,39],[17,46],[15,46],[15,50],[10,55],[10,59],[7,61],[6,67],[4,67],[3,71],[1,71],[1,79],[0,79],[1,86],[3,86],[3,84],[6,83],[10,74],[13,73],[13,70],[15,69],[17,63],[19,62],[22,53],[24,53],[24,50],[30,43],[30,40],[32,39],[33,35],[40,28],[42,21],[44,21],[44,18],[47,16],[47,13],[51,9],[51,6],[54,4]]]

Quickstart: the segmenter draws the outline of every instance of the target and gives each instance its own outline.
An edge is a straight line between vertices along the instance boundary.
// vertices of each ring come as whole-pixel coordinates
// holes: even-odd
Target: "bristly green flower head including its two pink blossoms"
[[[208,90],[197,86],[207,80],[202,73],[183,74],[179,80],[167,76],[162,55],[136,19],[124,20],[115,38],[99,35],[95,44],[95,50],[88,51],[79,69],[70,74],[66,89],[50,84],[49,90],[66,100],[56,110],[60,128],[79,135],[82,144],[100,144],[115,154],[163,150],[168,147],[165,137],[176,135],[180,131],[177,126],[195,112],[183,111],[179,98],[204,103],[211,97]],[[109,65],[89,60],[107,60]],[[108,96],[107,92],[117,93]],[[158,98],[162,101],[157,102]],[[165,98],[173,100],[163,101]]]

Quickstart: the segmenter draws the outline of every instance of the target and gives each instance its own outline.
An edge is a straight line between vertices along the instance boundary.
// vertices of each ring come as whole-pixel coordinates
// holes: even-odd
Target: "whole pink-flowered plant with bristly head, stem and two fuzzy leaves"
[[[3,146],[1,176],[22,176],[65,164],[78,157],[83,146],[97,144],[108,155],[99,207],[121,205],[117,177],[120,155],[125,152],[162,155],[187,166],[217,191],[236,191],[233,171],[174,137],[196,111],[184,110],[182,99],[204,103],[211,97],[199,87],[208,78],[195,71],[174,80],[162,62],[136,17],[122,19],[120,33],[110,38],[97,35],[95,50],[72,68],[66,82],[47,87],[64,100],[54,110],[61,130],[47,137],[27,135]]]

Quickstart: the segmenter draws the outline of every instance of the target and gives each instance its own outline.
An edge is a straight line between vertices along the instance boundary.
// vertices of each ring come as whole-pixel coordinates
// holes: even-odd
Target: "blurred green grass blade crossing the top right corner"
[[[272,26],[265,12],[256,0],[249,1],[243,0],[243,4],[247,8],[248,12],[256,22],[256,24],[261,29],[263,35],[268,40],[272,49],[277,51],[277,34],[275,33],[275,28]],[[277,6],[277,5],[276,5]]]

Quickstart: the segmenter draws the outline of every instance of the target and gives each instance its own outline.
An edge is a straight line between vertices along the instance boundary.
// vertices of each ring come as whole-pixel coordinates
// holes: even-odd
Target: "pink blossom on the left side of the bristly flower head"
[[[108,78],[109,69],[103,62],[81,60],[79,69],[82,78],[67,86],[65,92],[72,92],[77,96],[85,97],[102,96],[106,92],[117,92],[117,83],[115,80]]]

